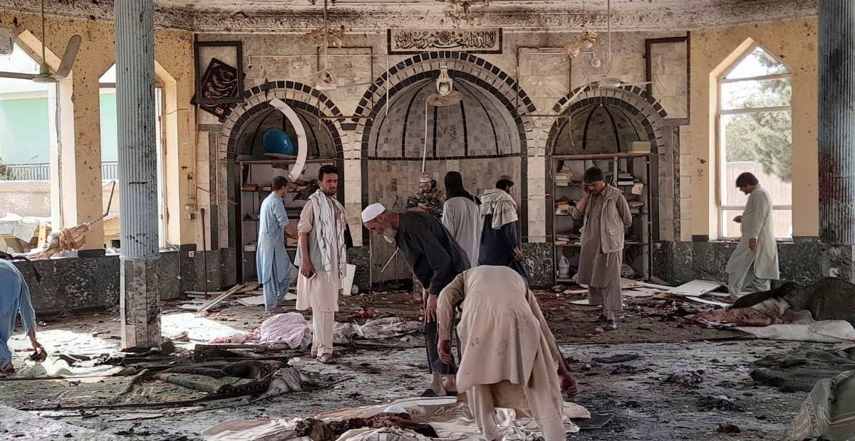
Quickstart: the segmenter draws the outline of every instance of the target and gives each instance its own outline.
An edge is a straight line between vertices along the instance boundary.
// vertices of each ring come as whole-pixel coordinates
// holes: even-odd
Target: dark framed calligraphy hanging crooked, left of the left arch
[[[196,104],[243,102],[244,55],[239,41],[193,43],[196,68]],[[202,73],[201,67],[208,66]],[[230,63],[233,63],[230,65]]]

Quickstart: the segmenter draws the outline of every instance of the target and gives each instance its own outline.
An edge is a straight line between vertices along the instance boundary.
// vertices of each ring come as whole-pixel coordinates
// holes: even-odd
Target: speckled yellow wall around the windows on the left
[[[41,41],[35,36],[41,35],[40,16],[0,10],[0,26],[11,27],[22,46],[38,59]],[[54,223],[70,227],[103,213],[98,80],[115,63],[115,31],[109,22],[48,16],[45,33],[51,69],[58,67],[68,38],[75,34],[83,38],[71,75],[58,83],[60,136],[57,145],[51,147],[51,181],[56,185],[51,198]],[[192,147],[195,109],[189,104],[193,89],[192,33],[156,30],[155,59],[156,76],[164,89],[168,241],[175,245],[192,243],[195,225],[188,216],[195,211],[196,182]],[[60,156],[62,161],[58,160]],[[93,225],[89,235],[86,247],[100,248],[100,223]]]

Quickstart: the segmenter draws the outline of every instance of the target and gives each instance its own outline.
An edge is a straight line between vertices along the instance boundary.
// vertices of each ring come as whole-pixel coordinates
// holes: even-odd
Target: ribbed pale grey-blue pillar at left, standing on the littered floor
[[[115,3],[124,347],[161,340],[153,0]]]

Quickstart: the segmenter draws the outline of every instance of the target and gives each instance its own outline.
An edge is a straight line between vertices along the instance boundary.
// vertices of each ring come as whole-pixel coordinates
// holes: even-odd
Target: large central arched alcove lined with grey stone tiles
[[[443,65],[462,100],[451,106],[426,106]],[[374,116],[363,128],[363,173],[367,177],[363,179],[363,202],[380,202],[392,211],[403,211],[407,199],[418,191],[424,154],[424,169],[439,188],[448,171],[459,171],[474,194],[494,188],[498,177],[510,176],[516,183],[511,194],[519,202],[522,235],[526,235],[529,123],[519,115],[529,111],[530,100],[514,80],[498,67],[465,53],[418,55],[380,78],[391,82],[380,82],[366,92],[366,96],[379,98],[374,107],[357,107],[357,114]],[[374,282],[411,278],[403,261],[393,261],[380,271],[393,253],[391,244],[372,241]]]

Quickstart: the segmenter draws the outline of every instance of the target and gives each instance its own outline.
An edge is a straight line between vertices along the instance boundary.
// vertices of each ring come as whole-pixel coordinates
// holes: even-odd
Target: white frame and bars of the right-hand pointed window
[[[726,185],[733,185],[733,183],[725,183],[723,177],[726,176],[726,146],[725,142],[727,139],[725,138],[725,130],[724,130],[724,119],[722,117],[728,115],[745,115],[745,114],[754,114],[754,113],[774,113],[774,112],[789,112],[790,116],[793,115],[793,105],[792,102],[789,106],[774,106],[774,107],[751,107],[751,108],[736,108],[736,109],[723,109],[722,102],[722,84],[732,84],[732,83],[743,83],[748,81],[762,81],[766,79],[781,79],[781,78],[789,78],[792,84],[793,73],[790,71],[789,73],[773,73],[771,75],[760,75],[755,77],[746,77],[746,78],[727,78],[730,73],[740,66],[742,61],[745,61],[747,57],[751,56],[752,53],[756,49],[762,49],[767,55],[771,56],[783,65],[787,67],[787,64],[781,61],[778,57],[773,55],[771,52],[766,50],[760,44],[752,44],[751,47],[746,49],[745,53],[740,55],[733,64],[730,65],[725,71],[719,75],[718,82],[716,83],[716,218],[718,218],[718,238],[722,240],[735,240],[740,239],[740,237],[736,236],[728,236],[724,235],[725,225],[728,223],[728,220],[724,218],[724,212],[728,211],[745,211],[746,206],[734,206],[734,205],[725,205],[723,203],[724,195],[728,191],[725,187]],[[787,67],[787,70],[790,70]],[[792,123],[791,123],[792,125]],[[781,211],[781,212],[793,212],[792,205],[772,205],[772,211]],[[792,216],[792,214],[791,214]],[[791,226],[792,229],[792,226]],[[780,233],[777,233],[780,235]],[[782,236],[775,237],[775,241],[792,241],[792,237]]]

